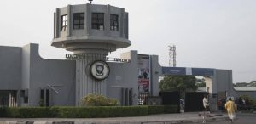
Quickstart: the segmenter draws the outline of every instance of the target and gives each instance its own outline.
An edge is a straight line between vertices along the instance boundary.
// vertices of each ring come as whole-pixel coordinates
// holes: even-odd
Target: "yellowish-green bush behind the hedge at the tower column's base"
[[[84,106],[117,106],[118,99],[108,99],[101,94],[89,94],[82,99]]]

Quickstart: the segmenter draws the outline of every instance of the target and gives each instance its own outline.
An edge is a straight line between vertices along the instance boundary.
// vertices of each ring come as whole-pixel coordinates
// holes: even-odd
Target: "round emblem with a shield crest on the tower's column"
[[[97,80],[104,80],[109,75],[109,66],[102,60],[96,60],[90,65],[90,75]]]

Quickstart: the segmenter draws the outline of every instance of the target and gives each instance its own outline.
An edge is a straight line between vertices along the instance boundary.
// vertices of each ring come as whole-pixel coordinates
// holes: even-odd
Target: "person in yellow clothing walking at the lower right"
[[[229,98],[229,101],[226,102],[225,108],[228,111],[228,115],[230,117],[230,122],[232,123],[236,117],[236,104],[232,101],[231,98]]]

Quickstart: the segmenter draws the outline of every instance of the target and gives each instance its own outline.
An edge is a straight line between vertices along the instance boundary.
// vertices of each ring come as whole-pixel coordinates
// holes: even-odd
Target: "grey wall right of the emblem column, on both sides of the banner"
[[[131,59],[130,63],[112,63],[109,62],[110,75],[108,76],[107,95],[108,97],[119,99],[122,103],[122,88],[132,88],[133,104],[138,104],[138,57],[137,51],[131,51],[121,54],[122,59]],[[151,96],[158,96],[159,93],[159,76],[161,66],[158,63],[157,55],[150,55],[151,79],[150,92]]]

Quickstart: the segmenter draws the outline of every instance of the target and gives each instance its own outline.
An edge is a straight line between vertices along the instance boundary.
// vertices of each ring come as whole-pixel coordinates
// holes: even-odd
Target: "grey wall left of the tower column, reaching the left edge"
[[[45,96],[46,90],[50,91],[49,105],[74,104],[74,61],[42,59],[38,54],[38,44],[23,48],[1,46],[0,51],[0,90],[6,94],[2,97],[9,96],[9,101],[12,101],[5,105],[38,106],[40,93]],[[62,97],[63,93],[68,97]],[[46,98],[43,98],[45,102]]]

